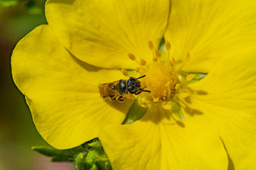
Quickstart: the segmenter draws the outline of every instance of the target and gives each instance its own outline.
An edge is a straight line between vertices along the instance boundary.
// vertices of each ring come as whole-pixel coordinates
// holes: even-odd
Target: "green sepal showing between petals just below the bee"
[[[134,102],[132,103],[132,106],[129,109],[125,117],[125,120],[122,124],[131,124],[132,122],[139,120],[145,115],[145,113],[148,111],[148,107],[147,108],[141,107],[141,103],[142,102],[140,97],[137,97],[136,99],[134,99]]]

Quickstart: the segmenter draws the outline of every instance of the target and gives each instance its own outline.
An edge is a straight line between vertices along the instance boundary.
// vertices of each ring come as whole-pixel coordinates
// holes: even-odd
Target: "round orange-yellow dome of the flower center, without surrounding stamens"
[[[147,89],[151,91],[152,99],[166,99],[175,90],[175,78],[170,67],[164,64],[154,64],[145,76]],[[156,102],[154,100],[154,102]]]

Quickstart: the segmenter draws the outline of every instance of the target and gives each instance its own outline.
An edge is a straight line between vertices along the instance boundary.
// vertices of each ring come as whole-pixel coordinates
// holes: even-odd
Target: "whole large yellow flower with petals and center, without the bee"
[[[71,148],[99,136],[114,169],[256,169],[256,3],[171,4],[47,1],[49,25],[18,43],[12,73],[48,143]],[[146,74],[151,91],[138,96],[147,113],[129,125],[120,124],[133,99],[99,94],[99,83],[124,78],[117,69]],[[195,75],[180,69],[209,74],[189,83]]]

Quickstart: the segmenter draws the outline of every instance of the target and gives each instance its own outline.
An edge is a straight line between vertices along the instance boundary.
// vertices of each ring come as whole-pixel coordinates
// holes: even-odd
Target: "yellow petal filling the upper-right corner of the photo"
[[[225,55],[256,46],[256,2],[253,0],[172,0],[165,38],[171,55],[184,60],[185,71],[208,73]]]

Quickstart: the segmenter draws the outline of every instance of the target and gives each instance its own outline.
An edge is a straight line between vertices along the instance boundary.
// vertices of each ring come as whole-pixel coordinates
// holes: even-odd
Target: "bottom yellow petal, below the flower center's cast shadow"
[[[151,110],[152,111],[152,110]],[[228,158],[216,132],[166,111],[148,111],[129,125],[107,125],[99,135],[113,169],[227,169]]]

